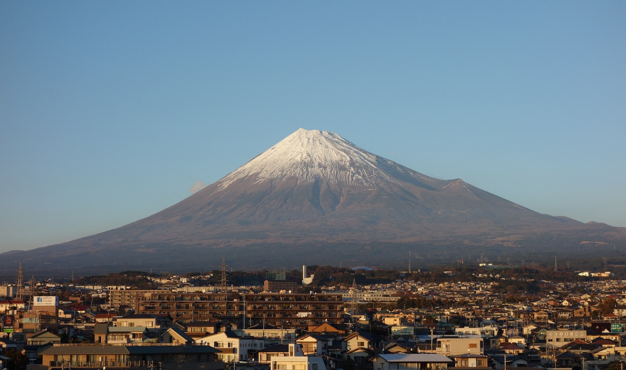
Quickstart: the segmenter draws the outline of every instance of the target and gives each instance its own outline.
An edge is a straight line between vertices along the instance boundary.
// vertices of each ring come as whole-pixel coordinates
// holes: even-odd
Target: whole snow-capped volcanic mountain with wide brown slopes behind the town
[[[340,262],[400,268],[409,259],[531,260],[623,249],[625,235],[624,228],[534,212],[458,178],[428,177],[336,133],[299,129],[161,212],[0,258],[38,269],[199,270],[222,259],[240,269]]]

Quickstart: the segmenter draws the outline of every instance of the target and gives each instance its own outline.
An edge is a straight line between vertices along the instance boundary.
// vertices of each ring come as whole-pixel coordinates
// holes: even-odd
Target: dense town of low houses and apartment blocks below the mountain
[[[0,285],[3,369],[617,370],[626,275],[473,264]],[[0,297],[1,299],[2,297]]]

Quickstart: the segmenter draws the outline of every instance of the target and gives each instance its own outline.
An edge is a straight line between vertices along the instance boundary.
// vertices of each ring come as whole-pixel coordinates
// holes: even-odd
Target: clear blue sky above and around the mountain
[[[300,127],[626,227],[626,2],[0,2],[0,252],[147,217]]]

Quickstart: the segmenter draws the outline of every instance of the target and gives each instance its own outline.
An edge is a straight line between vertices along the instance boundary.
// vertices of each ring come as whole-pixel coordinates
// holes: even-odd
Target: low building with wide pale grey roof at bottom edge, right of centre
[[[374,370],[424,370],[448,369],[449,357],[436,353],[377,354],[371,360]]]

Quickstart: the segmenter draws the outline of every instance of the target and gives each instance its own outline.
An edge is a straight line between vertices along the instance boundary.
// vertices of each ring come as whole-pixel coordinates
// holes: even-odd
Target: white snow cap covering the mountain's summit
[[[249,177],[254,177],[255,183],[296,178],[299,182],[322,180],[377,187],[382,182],[397,182],[398,173],[421,181],[434,180],[367,152],[336,133],[300,128],[227,175],[220,181],[220,188]]]

